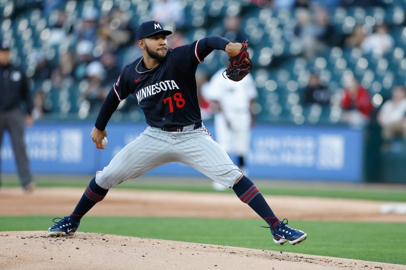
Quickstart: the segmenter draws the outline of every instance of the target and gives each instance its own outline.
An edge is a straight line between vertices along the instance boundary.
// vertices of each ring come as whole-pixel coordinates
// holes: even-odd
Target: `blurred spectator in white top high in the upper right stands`
[[[376,27],[375,33],[365,37],[361,49],[365,53],[384,55],[393,48],[393,45],[393,37],[388,33],[388,27],[381,24]]]

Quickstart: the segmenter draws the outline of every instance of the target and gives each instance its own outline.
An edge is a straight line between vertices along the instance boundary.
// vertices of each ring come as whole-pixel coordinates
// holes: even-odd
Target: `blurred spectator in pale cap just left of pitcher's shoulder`
[[[90,111],[97,112],[108,93],[108,89],[102,84],[106,78],[106,70],[99,61],[93,61],[87,66],[86,74],[88,84],[83,97],[89,101]]]

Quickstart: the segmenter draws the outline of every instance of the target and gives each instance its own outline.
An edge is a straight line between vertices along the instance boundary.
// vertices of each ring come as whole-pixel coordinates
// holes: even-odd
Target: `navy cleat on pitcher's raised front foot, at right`
[[[286,223],[284,222],[286,220]],[[306,240],[308,235],[301,230],[290,228],[287,226],[288,220],[285,218],[283,221],[280,221],[278,225],[274,228],[270,228],[270,232],[274,237],[274,242],[280,245],[288,242],[292,245],[299,244],[300,242]]]

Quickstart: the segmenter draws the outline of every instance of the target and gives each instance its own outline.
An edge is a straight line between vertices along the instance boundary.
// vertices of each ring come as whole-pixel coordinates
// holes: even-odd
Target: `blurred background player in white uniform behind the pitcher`
[[[246,157],[249,152],[251,126],[254,115],[252,105],[258,97],[251,74],[242,81],[225,80],[224,68],[218,70],[204,87],[202,95],[214,103],[214,128],[216,141],[229,153],[238,157],[237,166],[248,175]],[[227,187],[213,181],[213,188],[224,190]]]

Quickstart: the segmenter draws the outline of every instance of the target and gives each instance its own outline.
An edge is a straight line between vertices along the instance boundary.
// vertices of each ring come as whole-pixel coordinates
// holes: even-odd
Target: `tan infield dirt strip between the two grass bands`
[[[56,215],[72,212],[83,188],[37,188],[24,196],[21,188],[0,189],[1,215]],[[405,215],[381,213],[382,202],[367,200],[264,196],[274,212],[296,220],[406,222]],[[234,194],[213,192],[111,189],[87,215],[258,218]]]

